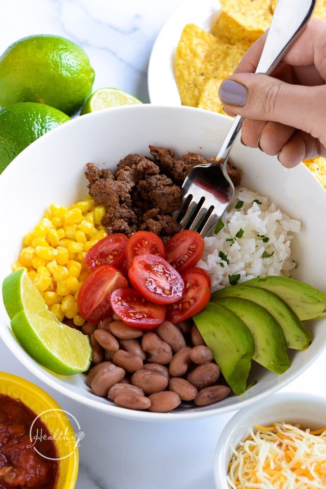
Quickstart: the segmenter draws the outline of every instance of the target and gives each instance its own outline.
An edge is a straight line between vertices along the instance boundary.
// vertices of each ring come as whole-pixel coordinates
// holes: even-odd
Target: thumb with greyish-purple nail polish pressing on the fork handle
[[[274,121],[319,137],[326,122],[326,86],[291,85],[260,73],[236,73],[220,87],[224,110]]]

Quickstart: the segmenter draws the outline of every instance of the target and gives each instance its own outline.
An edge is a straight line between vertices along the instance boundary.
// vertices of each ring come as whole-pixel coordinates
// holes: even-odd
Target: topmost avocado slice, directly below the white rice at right
[[[253,278],[245,282],[281,297],[301,321],[326,318],[326,294],[308,284],[288,277]]]

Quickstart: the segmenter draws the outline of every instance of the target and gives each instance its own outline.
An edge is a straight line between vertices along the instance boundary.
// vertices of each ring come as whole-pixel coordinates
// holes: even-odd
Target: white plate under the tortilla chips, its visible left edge
[[[152,104],[181,105],[173,63],[182,30],[186,24],[193,23],[210,32],[220,10],[219,0],[187,0],[165,23],[148,65],[148,93]]]

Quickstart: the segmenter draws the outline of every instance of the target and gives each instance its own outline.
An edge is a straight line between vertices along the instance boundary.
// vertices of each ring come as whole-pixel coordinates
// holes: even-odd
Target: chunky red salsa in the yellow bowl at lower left
[[[34,423],[32,436],[42,436],[32,443],[30,428],[36,414],[19,399],[0,394],[0,489],[55,489],[59,474],[57,447],[48,440],[50,433],[41,419]],[[34,445],[34,447],[33,447]]]

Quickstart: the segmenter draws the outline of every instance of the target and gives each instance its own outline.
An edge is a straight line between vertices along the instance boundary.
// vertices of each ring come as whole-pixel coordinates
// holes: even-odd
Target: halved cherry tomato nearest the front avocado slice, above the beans
[[[178,323],[198,314],[207,305],[210,291],[207,280],[199,273],[185,272],[183,275],[185,294],[179,302],[168,307],[167,319]]]

